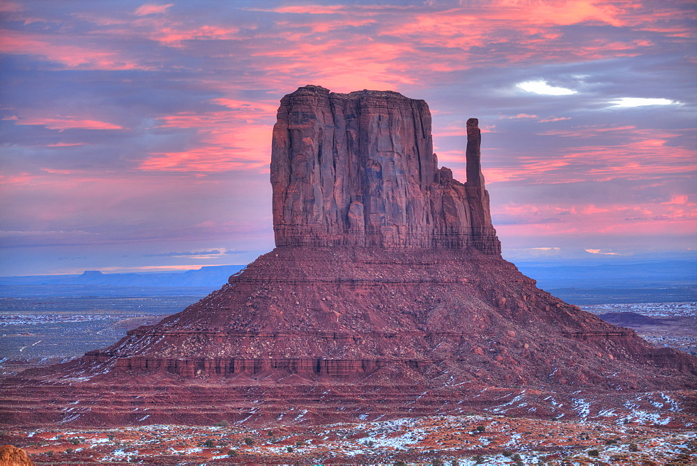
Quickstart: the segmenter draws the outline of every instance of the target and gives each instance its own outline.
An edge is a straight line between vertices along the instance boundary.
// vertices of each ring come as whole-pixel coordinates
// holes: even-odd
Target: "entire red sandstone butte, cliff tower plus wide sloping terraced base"
[[[689,406],[697,358],[501,257],[475,118],[466,177],[438,168],[423,100],[299,88],[273,128],[276,248],[105,350],[3,380],[0,421],[264,426],[503,406],[590,419],[657,391]]]

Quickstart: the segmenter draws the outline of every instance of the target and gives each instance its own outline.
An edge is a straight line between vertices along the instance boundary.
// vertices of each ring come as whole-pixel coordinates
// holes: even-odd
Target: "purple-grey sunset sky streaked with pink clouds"
[[[512,261],[693,257],[694,1],[0,3],[0,275],[245,264],[299,86],[426,100],[464,180],[479,118]]]

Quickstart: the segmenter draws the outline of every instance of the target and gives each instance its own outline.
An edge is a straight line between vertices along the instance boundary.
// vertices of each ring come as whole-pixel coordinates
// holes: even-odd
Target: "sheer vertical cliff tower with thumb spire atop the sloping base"
[[[463,185],[438,169],[423,100],[320,86],[286,95],[271,155],[277,246],[475,247],[499,254],[477,121],[470,123]]]

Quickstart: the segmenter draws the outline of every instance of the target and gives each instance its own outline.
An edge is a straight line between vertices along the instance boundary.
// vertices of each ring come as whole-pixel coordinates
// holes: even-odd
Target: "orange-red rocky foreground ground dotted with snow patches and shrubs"
[[[11,429],[37,464],[694,465],[695,426],[441,416],[365,424]]]

